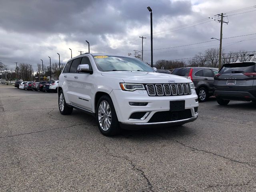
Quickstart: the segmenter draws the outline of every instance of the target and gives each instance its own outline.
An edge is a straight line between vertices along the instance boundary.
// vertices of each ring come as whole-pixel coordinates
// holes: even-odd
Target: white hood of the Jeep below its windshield
[[[102,76],[118,78],[126,83],[191,83],[192,81],[177,75],[158,72],[141,71],[108,71],[102,72]]]

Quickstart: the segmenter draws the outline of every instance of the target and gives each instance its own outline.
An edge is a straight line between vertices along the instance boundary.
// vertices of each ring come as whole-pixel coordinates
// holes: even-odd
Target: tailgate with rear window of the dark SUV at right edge
[[[219,76],[215,78],[214,86],[219,89],[251,89],[254,83],[255,63],[239,62],[224,64]]]

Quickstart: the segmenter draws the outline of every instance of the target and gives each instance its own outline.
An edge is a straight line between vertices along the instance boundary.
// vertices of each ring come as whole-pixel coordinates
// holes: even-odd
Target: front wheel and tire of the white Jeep
[[[100,132],[105,136],[114,136],[120,132],[113,102],[108,95],[103,95],[97,103],[96,121]]]

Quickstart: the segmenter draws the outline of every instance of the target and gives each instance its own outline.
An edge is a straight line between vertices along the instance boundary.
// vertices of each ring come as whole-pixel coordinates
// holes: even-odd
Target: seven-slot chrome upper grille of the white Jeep
[[[184,84],[145,84],[149,96],[190,95],[189,83]]]

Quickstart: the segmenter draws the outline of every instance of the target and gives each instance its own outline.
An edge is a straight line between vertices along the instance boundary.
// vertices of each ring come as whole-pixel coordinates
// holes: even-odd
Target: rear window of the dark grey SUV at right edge
[[[222,69],[220,70],[220,74],[225,73],[250,73],[254,72],[255,64],[254,63],[231,63],[224,64]]]

